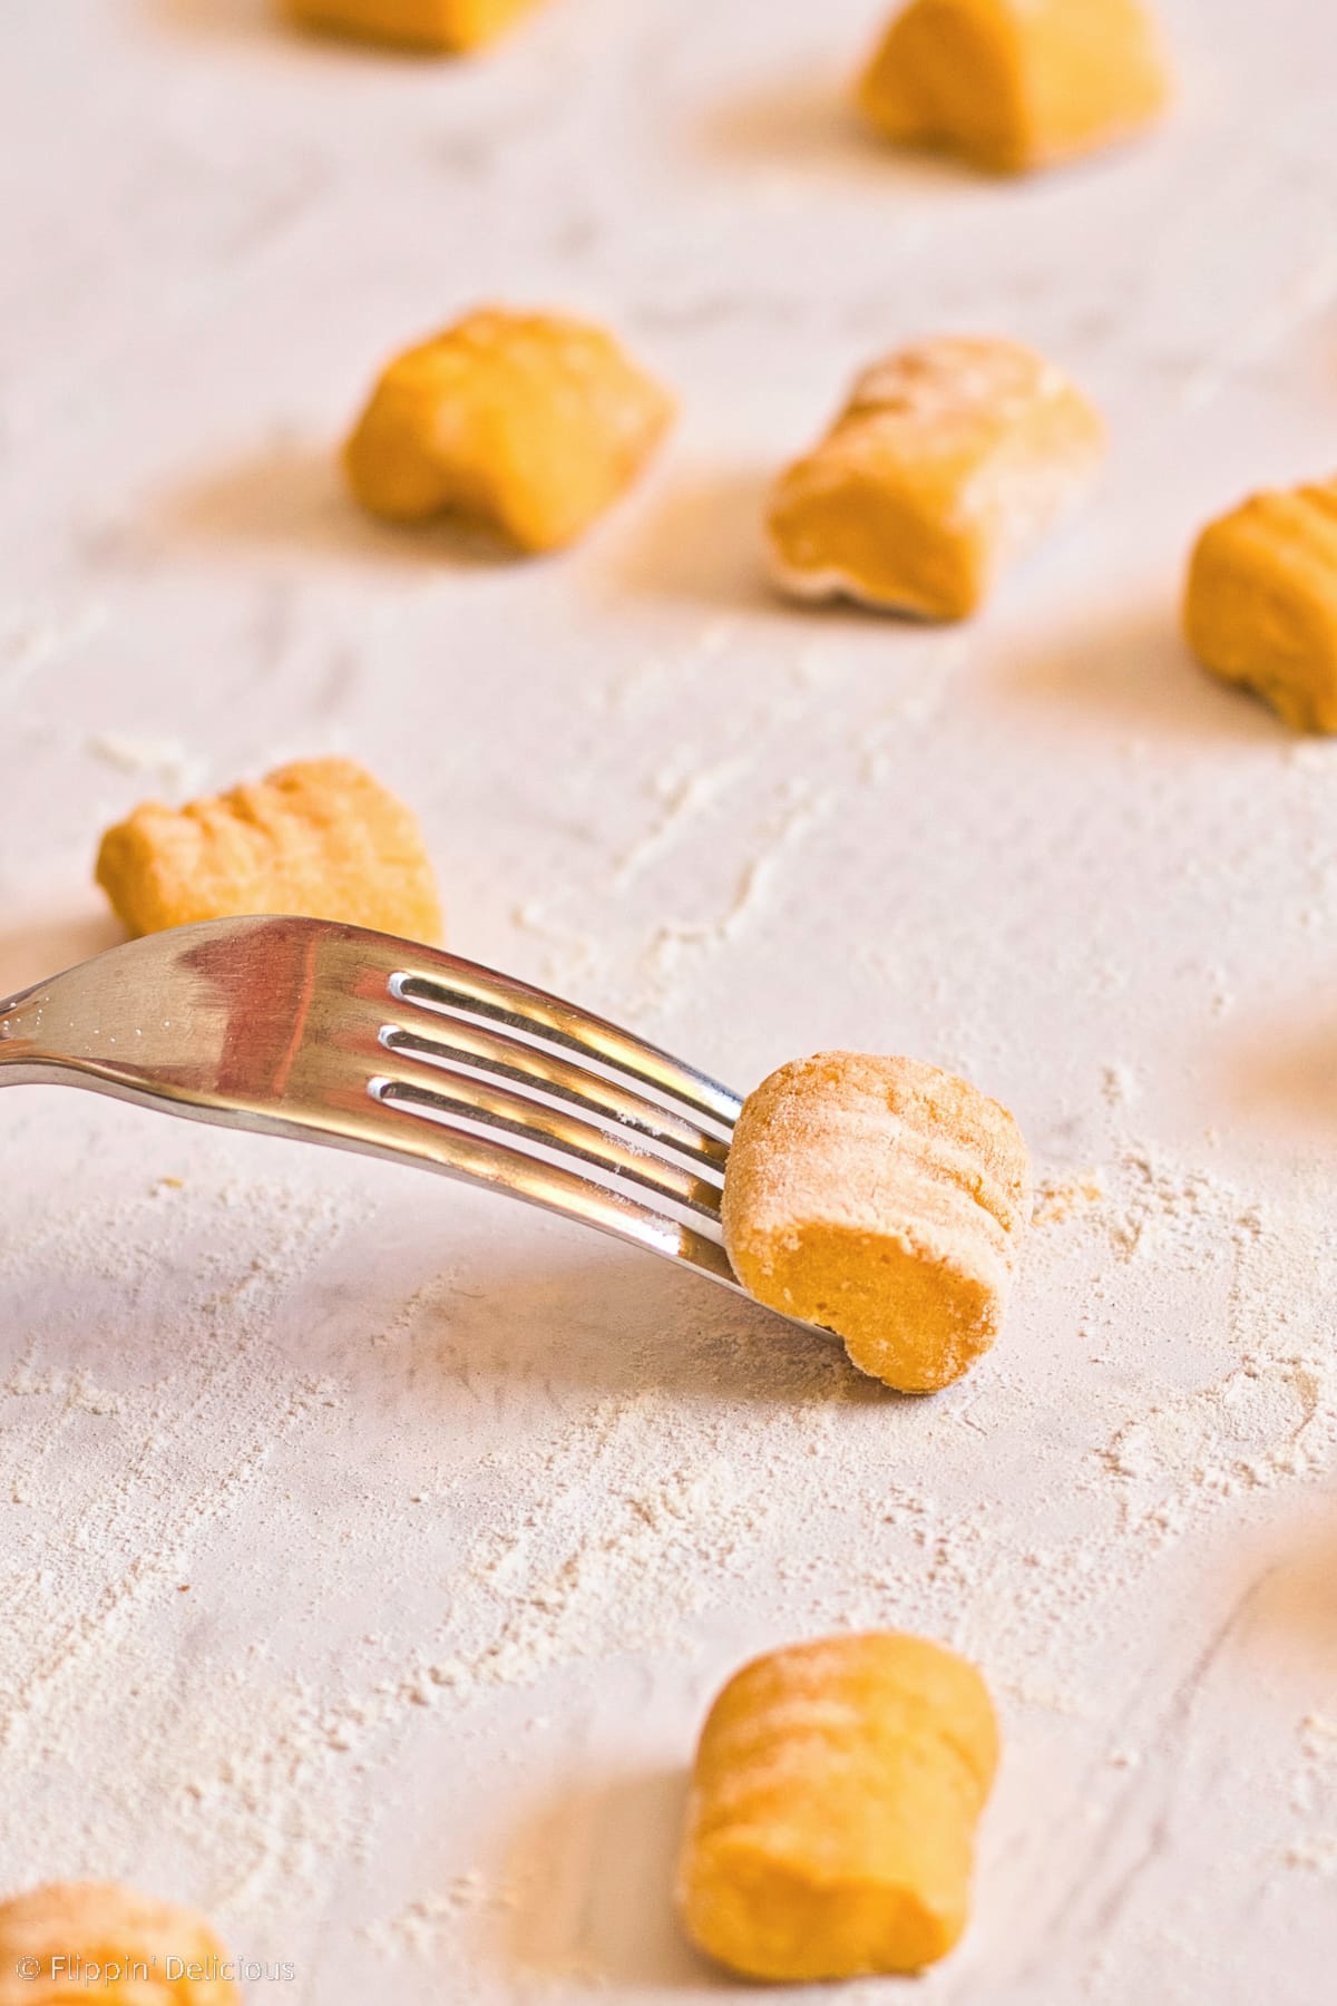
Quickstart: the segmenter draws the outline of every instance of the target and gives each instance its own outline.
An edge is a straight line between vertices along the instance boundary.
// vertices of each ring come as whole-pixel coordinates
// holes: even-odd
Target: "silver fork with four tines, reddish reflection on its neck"
[[[319,919],[216,919],[0,1003],[0,1085],[359,1149],[509,1192],[740,1288],[740,1097],[573,1003]]]

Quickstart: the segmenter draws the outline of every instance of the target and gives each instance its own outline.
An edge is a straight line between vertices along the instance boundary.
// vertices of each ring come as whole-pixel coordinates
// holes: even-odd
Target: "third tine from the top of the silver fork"
[[[647,1149],[633,1149],[619,1135],[581,1121],[559,1107],[497,1087],[467,1073],[405,1065],[395,1075],[377,1075],[369,1091],[385,1107],[413,1109],[425,1119],[457,1117],[501,1129],[525,1143],[553,1149],[589,1163],[615,1184],[635,1184],[667,1204],[720,1224],[720,1186],[694,1178]]]

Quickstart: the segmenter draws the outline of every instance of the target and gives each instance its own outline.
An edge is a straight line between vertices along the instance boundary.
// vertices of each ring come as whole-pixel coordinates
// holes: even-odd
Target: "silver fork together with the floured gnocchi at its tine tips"
[[[1030,1218],[1010,1113],[936,1067],[818,1053],[744,1103],[573,1003],[323,919],[152,933],[0,1003],[0,1085],[24,1081],[509,1192],[838,1332],[902,1392],[988,1350]]]

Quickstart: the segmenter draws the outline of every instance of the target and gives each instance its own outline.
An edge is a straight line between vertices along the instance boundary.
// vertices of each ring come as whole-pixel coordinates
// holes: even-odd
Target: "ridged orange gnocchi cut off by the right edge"
[[[1209,524],[1185,630],[1205,668],[1297,732],[1337,732],[1337,481],[1261,493]]]

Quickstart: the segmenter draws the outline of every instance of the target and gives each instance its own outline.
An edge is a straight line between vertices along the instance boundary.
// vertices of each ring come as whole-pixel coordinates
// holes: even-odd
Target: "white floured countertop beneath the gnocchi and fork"
[[[1317,2006],[1337,746],[1175,602],[1207,516],[1337,461],[1331,16],[1167,0],[1177,120],[994,185],[844,118],[874,0],[688,12],[553,0],[435,66],[259,0],[8,0],[0,993],[114,939],[132,802],[357,752],[461,953],[740,1089],[850,1045],[1008,1101],[1014,1318],[896,1400],[495,1198],[6,1093],[0,1884],[192,1902],[297,1966],[257,2000],[686,2006],[730,1990],[667,1908],[708,1699],[894,1625],[1006,1729],[916,2000]],[[377,365],[479,299],[607,319],[684,399],[557,562],[337,481]],[[1090,389],[1096,504],[968,630],[786,610],[766,479],[944,329]]]

